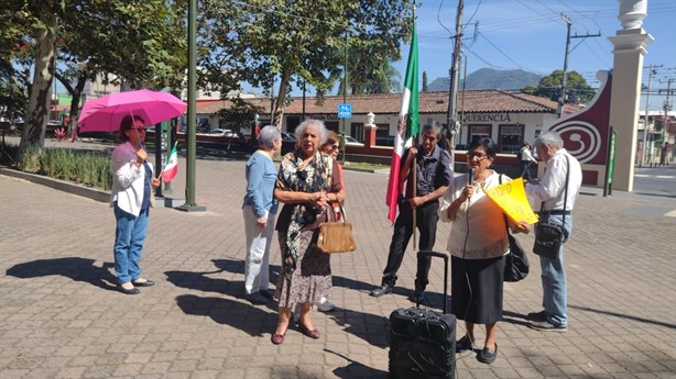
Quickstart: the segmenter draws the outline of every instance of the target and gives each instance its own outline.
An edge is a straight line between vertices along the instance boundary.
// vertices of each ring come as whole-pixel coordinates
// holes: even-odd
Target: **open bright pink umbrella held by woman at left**
[[[77,124],[81,132],[117,132],[126,115],[141,116],[146,125],[177,118],[187,104],[168,92],[146,89],[110,93],[89,100],[83,107]]]

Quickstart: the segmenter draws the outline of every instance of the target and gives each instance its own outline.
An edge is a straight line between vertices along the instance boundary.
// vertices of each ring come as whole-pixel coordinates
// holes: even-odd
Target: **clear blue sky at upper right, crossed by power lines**
[[[427,0],[417,8],[419,71],[428,80],[447,77],[450,67],[457,0]],[[548,75],[563,69],[566,22],[571,21],[571,35],[598,34],[599,37],[571,38],[568,69],[580,73],[592,87],[598,87],[596,73],[612,68],[612,44],[608,36],[622,26],[618,20],[617,0],[467,0],[465,1],[464,44],[467,73],[480,68],[516,69]],[[648,0],[643,29],[655,40],[647,45],[644,66],[657,68],[652,89],[666,88],[668,78],[676,79],[676,1]],[[478,22],[478,33],[475,23]],[[472,36],[477,35],[476,38]],[[394,67],[406,69],[408,46],[403,46],[404,59]],[[647,82],[647,69],[644,81]],[[676,81],[672,81],[672,88]],[[650,109],[659,108],[663,100],[651,96]],[[642,102],[641,108],[644,108]]]

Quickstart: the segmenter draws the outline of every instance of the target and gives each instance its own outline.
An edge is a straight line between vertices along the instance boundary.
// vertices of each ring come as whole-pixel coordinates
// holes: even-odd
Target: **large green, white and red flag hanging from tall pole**
[[[402,156],[404,155],[404,149],[406,147],[411,147],[413,144],[413,137],[418,133],[417,35],[415,33],[415,19],[413,20],[411,52],[408,53],[408,64],[406,65],[404,87],[402,108],[399,112],[397,133],[394,137],[394,149],[392,151],[390,181],[388,182],[388,197],[385,199],[385,203],[390,207],[388,219],[390,219],[391,222],[394,222],[394,219],[396,218],[396,200],[399,194],[403,191],[403,186],[399,180]]]

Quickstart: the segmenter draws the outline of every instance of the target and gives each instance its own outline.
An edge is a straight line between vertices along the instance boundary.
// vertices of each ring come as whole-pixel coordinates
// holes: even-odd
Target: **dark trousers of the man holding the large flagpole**
[[[437,211],[439,202],[437,200],[428,201],[416,209],[416,226],[421,232],[418,250],[432,250],[437,234],[437,221],[439,215]],[[399,216],[394,222],[394,231],[392,233],[392,243],[390,244],[390,254],[388,255],[388,266],[383,270],[383,285],[394,286],[396,282],[396,271],[402,265],[404,253],[408,241],[413,235],[413,210],[408,202],[400,199]],[[429,274],[430,257],[424,257],[417,261],[417,274],[415,278],[415,289],[424,291],[427,287],[427,276]]]

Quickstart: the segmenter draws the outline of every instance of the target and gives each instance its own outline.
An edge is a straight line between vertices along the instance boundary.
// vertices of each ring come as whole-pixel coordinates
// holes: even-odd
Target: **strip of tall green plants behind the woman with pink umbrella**
[[[1,163],[8,166],[103,190],[112,187],[112,167],[108,154],[30,146],[19,155],[18,146],[0,146]]]

